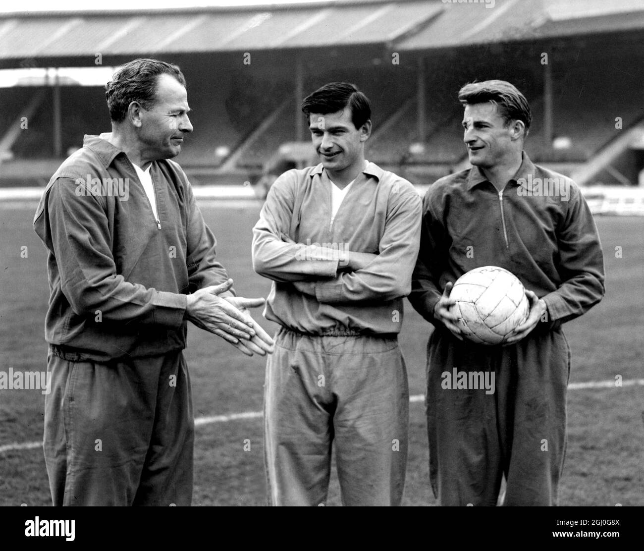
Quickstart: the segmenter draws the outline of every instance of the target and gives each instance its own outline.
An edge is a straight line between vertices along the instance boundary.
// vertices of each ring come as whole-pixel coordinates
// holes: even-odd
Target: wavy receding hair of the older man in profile
[[[156,88],[160,75],[170,75],[185,86],[185,77],[178,66],[156,59],[135,59],[118,68],[111,81],[105,85],[109,117],[121,122],[128,114],[129,104],[136,101],[145,110],[156,101]]]

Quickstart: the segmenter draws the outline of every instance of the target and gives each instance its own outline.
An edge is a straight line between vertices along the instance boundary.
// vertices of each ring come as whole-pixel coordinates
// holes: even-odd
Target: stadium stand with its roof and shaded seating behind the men
[[[79,37],[72,31],[81,26]],[[337,80],[354,82],[372,99],[370,160],[421,179],[448,173],[465,157],[457,91],[465,82],[501,78],[531,102],[529,155],[574,173],[603,158],[605,148],[614,150],[620,130],[644,119],[643,30],[644,5],[635,0],[496,0],[494,9],[484,2],[352,0],[1,14],[0,68],[26,61],[91,66],[96,52],[109,65],[146,55],[178,63],[195,130],[177,160],[189,174],[205,175],[202,183],[225,180],[225,172],[252,180],[280,144],[307,139],[298,94]],[[35,34],[48,39],[36,44],[25,38]],[[60,162],[53,158],[50,89],[0,88],[0,140],[42,90],[29,131],[10,151],[0,151],[0,186],[21,178],[42,185]],[[61,86],[61,111],[62,155],[79,146],[84,133],[109,130],[100,87]],[[643,156],[628,140],[619,143],[596,178],[635,184]]]

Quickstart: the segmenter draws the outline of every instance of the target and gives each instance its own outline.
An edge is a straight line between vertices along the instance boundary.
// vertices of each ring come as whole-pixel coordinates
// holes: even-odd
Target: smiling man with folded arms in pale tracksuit
[[[254,269],[280,325],[266,367],[272,505],[324,505],[332,443],[345,505],[399,505],[409,396],[397,334],[418,253],[421,199],[365,160],[371,108],[332,82],[302,110],[320,164],[285,172],[254,227]]]

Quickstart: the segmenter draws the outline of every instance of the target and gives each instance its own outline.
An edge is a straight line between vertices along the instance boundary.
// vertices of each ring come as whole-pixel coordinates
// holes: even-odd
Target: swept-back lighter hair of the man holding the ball
[[[497,106],[506,126],[511,121],[522,121],[526,125],[526,134],[530,128],[532,113],[526,96],[507,81],[470,82],[460,89],[459,101],[470,105],[491,101]]]

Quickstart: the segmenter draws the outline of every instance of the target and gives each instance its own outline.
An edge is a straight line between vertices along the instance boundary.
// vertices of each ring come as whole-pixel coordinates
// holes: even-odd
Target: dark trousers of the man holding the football
[[[493,371],[495,392],[446,389],[444,372]],[[556,505],[564,467],[570,351],[564,333],[533,331],[507,347],[428,342],[430,480],[440,505]]]

